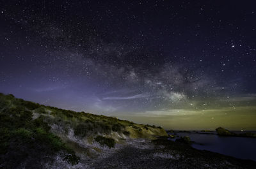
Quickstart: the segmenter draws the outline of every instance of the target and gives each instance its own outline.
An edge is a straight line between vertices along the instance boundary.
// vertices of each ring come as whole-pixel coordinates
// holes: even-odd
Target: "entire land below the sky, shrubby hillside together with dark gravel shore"
[[[161,127],[0,94],[0,168],[256,168],[173,142]]]

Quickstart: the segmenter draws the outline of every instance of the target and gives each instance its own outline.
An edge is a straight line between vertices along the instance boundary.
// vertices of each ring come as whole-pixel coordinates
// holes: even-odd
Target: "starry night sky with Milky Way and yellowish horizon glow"
[[[256,2],[1,1],[0,92],[166,129],[256,129]]]

